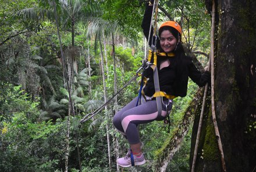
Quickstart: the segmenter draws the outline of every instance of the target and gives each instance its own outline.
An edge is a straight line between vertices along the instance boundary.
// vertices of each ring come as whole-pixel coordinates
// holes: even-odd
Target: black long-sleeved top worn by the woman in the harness
[[[146,6],[143,22],[141,24],[144,35],[147,39],[150,30],[152,9],[152,6]],[[151,30],[151,34],[152,33],[153,32]],[[157,38],[157,40],[157,50],[158,52],[163,52],[159,44],[159,38]],[[151,38],[148,43],[151,46]],[[176,52],[174,53],[177,54]],[[168,58],[170,61],[169,67],[165,67],[159,70],[159,64],[162,60],[166,60],[166,58]],[[182,52],[181,55],[175,57],[168,57],[167,54],[166,56],[158,56],[157,64],[160,90],[166,94],[170,94],[176,97],[186,96],[189,77],[193,80],[193,82],[197,83],[198,86],[204,86],[206,83],[205,80],[201,79],[202,74],[193,64],[191,57],[186,56],[184,52]],[[143,91],[146,96],[151,97],[155,93],[152,68],[146,69],[144,71],[144,76],[148,78],[148,81]]]

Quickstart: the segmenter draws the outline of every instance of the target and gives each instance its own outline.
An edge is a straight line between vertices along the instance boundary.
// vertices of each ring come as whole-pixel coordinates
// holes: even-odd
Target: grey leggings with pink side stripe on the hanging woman
[[[158,115],[157,101],[145,101],[141,98],[141,105],[136,107],[138,97],[117,112],[113,118],[113,125],[128,139],[130,144],[140,142],[137,126],[143,123],[150,123],[154,120],[163,120],[172,109],[172,100],[162,101],[162,114]],[[164,104],[163,104],[164,103]],[[167,109],[166,109],[166,105]]]

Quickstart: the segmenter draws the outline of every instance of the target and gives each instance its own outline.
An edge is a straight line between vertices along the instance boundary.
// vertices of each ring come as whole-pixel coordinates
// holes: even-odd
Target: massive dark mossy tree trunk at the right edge
[[[205,0],[211,11],[211,0]],[[256,1],[216,1],[215,111],[227,171],[256,171]],[[210,106],[208,106],[209,109]],[[199,115],[195,116],[191,161]],[[204,116],[195,171],[220,172],[211,112]]]

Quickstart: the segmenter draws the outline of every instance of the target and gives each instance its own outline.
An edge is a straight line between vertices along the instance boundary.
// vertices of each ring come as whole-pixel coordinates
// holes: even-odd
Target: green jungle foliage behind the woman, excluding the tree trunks
[[[55,0],[60,35],[52,2],[0,2],[0,171],[65,171],[66,153],[69,171],[116,171],[116,139],[120,156],[125,155],[128,144],[113,128],[111,119],[115,108],[122,108],[137,96],[138,84],[131,83],[118,95],[117,107],[112,103],[108,111],[88,122],[81,125],[79,121],[104,103],[102,75],[106,76],[106,97],[115,93],[111,34],[115,37],[118,89],[140,67],[145,48],[140,28],[144,1]],[[159,12],[159,23],[170,17],[180,21],[184,45],[190,51],[209,53],[210,21],[204,3],[161,1],[160,6],[168,13]],[[58,36],[66,64],[61,58]],[[105,52],[104,61],[101,52]],[[203,65],[208,61],[200,54],[198,59]],[[105,64],[104,74],[101,63]],[[70,99],[67,84],[72,89]],[[176,130],[196,90],[197,86],[190,82],[187,97],[176,98],[170,133],[162,122],[140,126],[149,163],[137,170],[151,170],[158,149]],[[74,116],[69,115],[70,100]],[[188,171],[190,137],[187,134],[168,171]]]

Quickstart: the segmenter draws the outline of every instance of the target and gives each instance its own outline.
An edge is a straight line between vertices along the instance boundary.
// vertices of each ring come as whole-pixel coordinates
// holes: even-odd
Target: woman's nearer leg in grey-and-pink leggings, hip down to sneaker
[[[164,103],[168,104],[168,100],[166,101]],[[165,109],[165,106],[162,108]],[[171,108],[172,104],[169,104],[167,110],[170,111]],[[143,103],[137,107],[130,108],[120,115],[122,130],[126,134],[126,137],[130,143],[131,152],[134,155],[131,156],[131,152],[129,151],[125,157],[119,158],[117,163],[120,166],[130,167],[133,160],[134,165],[142,165],[145,163],[144,155],[141,152],[141,142],[137,125],[141,123],[149,123],[154,120],[162,120],[166,115],[166,111],[162,111],[162,114],[158,115],[157,103],[155,100],[147,101],[146,103]]]

